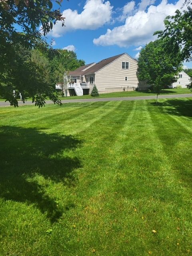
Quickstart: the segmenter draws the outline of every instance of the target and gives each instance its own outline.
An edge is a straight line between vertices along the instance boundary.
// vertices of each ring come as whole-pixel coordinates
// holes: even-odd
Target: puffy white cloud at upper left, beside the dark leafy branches
[[[109,1],[104,0],[87,0],[84,10],[78,14],[77,10],[67,9],[62,12],[65,17],[65,26],[57,22],[49,35],[60,37],[67,31],[76,29],[95,30],[104,24],[110,22],[112,8]]]

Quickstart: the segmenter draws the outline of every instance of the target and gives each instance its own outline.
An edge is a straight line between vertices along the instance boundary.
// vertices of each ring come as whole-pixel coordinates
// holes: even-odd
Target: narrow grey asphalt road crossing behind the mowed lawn
[[[159,95],[159,99],[165,98],[190,98],[192,97],[192,93],[189,94],[174,94],[174,95]],[[91,98],[91,99],[77,99],[77,100],[62,100],[62,103],[73,103],[73,102],[98,102],[98,101],[120,101],[120,100],[152,100],[156,99],[156,96],[136,96],[136,97],[119,97],[119,98]],[[46,100],[47,104],[53,103],[51,100]],[[24,105],[34,105],[31,101],[25,102],[23,104],[19,101],[19,106]],[[10,106],[9,102],[0,101],[0,107]]]

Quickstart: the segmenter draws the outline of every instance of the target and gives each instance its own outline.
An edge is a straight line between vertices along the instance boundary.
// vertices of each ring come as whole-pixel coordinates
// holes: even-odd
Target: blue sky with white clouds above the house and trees
[[[174,15],[184,0],[63,0],[60,22],[53,27],[47,40],[53,48],[73,50],[86,64],[99,62],[128,53],[138,58],[139,52],[150,41],[153,33],[164,29],[164,18]],[[54,8],[58,8],[54,4]],[[192,62],[184,68],[192,68]]]

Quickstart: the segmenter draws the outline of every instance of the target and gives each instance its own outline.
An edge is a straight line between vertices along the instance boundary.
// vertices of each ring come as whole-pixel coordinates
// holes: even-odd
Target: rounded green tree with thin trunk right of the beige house
[[[138,79],[153,86],[158,95],[164,86],[176,82],[178,72],[182,70],[180,50],[172,54],[164,50],[164,44],[169,38],[156,40],[147,44],[138,58]]]

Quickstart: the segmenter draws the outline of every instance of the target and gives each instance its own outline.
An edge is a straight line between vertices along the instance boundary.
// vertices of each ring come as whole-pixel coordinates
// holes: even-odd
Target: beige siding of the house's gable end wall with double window
[[[129,62],[129,69],[122,69],[122,62]],[[106,88],[112,88],[112,90],[122,88],[123,90],[123,87],[138,87],[137,65],[137,62],[127,54],[114,60],[96,72],[95,80],[98,91],[104,92]],[[127,81],[125,81],[125,76],[128,77]]]

